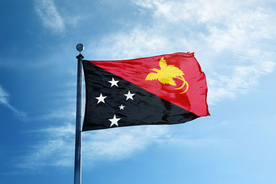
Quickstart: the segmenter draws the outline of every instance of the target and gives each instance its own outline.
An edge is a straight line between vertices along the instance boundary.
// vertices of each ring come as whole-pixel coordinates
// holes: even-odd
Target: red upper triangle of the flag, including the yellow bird
[[[210,115],[206,76],[194,53],[89,62],[197,116]]]

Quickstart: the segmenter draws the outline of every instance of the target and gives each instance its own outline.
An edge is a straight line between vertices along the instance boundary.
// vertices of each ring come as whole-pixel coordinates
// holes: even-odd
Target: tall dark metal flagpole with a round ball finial
[[[74,184],[81,184],[81,95],[82,95],[82,59],[83,45],[77,44],[79,55],[77,68],[77,112],[76,112],[76,141],[75,141],[75,175]]]

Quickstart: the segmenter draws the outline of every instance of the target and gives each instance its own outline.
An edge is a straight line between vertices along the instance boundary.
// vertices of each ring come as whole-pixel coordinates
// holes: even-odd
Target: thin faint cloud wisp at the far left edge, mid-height
[[[18,110],[17,108],[14,108],[14,106],[10,105],[10,102],[8,100],[9,97],[10,95],[8,94],[8,92],[6,92],[6,90],[4,90],[0,85],[0,104],[10,109],[15,114],[15,116],[17,116],[17,118],[20,119],[21,121],[27,121],[27,114],[25,112],[22,112],[21,110]]]

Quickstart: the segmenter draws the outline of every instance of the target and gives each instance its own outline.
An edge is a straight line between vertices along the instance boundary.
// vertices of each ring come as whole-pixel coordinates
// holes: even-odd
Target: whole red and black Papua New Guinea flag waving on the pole
[[[204,72],[193,53],[83,61],[83,131],[185,123],[210,115]]]

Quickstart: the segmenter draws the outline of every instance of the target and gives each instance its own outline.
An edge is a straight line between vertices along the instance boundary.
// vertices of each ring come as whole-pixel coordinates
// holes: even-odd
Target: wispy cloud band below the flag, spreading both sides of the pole
[[[212,136],[194,137],[193,131],[186,129],[183,135],[183,131],[174,131],[167,125],[146,125],[83,132],[82,165],[93,167],[97,161],[127,159],[153,144],[179,145],[186,149],[194,149],[203,146],[219,147],[230,143],[228,139]],[[43,172],[45,167],[61,169],[74,165],[75,125],[73,123],[27,133],[40,134],[45,136],[45,139],[32,145],[29,154],[19,158],[17,167],[22,170]]]

